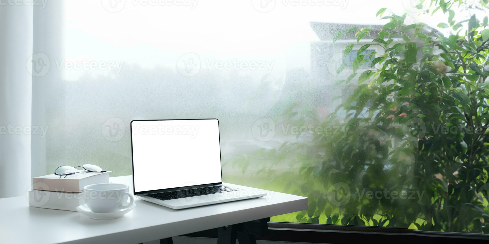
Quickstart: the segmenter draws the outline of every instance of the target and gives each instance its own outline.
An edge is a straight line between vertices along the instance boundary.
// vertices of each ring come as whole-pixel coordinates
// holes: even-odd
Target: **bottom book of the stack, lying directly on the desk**
[[[83,192],[29,191],[29,206],[76,211],[77,206],[85,204]]]

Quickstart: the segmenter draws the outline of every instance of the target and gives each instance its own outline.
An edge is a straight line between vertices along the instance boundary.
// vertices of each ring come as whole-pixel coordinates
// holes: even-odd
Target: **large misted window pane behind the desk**
[[[397,46],[385,51],[374,42],[357,42],[355,36],[360,29],[371,28],[373,37],[364,39],[372,40],[380,35],[380,28],[389,29],[385,26],[389,19],[376,17],[382,7],[399,16],[407,13],[406,24],[416,21],[427,26],[394,37],[388,48],[398,42],[416,43],[416,59],[443,49],[423,46],[435,34],[445,35],[446,39],[437,40],[442,46],[456,42],[450,35],[458,21],[469,20],[457,28],[478,26],[469,35],[480,38],[477,43],[481,45],[488,31],[484,14],[466,5],[453,5],[455,17],[441,10],[432,16],[402,1],[388,0],[325,1],[324,6],[276,1],[273,7],[252,2],[120,1],[121,5],[105,5],[93,0],[37,9],[41,19],[61,18],[56,14],[59,11],[65,14],[50,27],[63,30],[61,36],[35,32],[35,42],[48,41],[45,46],[35,46],[34,53],[48,57],[50,66],[33,81],[33,125],[48,128],[45,135],[33,138],[37,161],[33,170],[41,175],[62,164],[91,163],[111,170],[111,176],[130,175],[132,120],[218,118],[224,182],[309,197],[309,210],[275,216],[274,222],[487,233],[487,96],[481,93],[480,106],[463,111],[464,104],[472,101],[467,94],[474,85],[468,83],[487,77],[487,68],[481,66],[488,56],[487,46],[480,46],[478,58],[467,55],[472,66],[482,68],[466,70],[463,78],[444,75],[447,67],[457,65],[448,56],[429,56],[432,60],[426,65],[439,67],[416,76],[420,80],[413,81],[422,81],[429,88],[419,93],[419,86],[402,89],[407,81],[394,82],[389,72],[368,73],[362,80],[361,74],[372,69],[370,64],[376,58],[390,52],[404,57],[409,49]],[[431,9],[429,4],[423,7]],[[390,15],[388,12],[383,16]],[[477,21],[470,20],[471,16]],[[447,18],[456,19],[450,28],[426,29]],[[345,36],[355,26],[360,29]],[[333,42],[338,30],[344,30],[343,36]],[[349,44],[355,48],[344,55]],[[337,66],[330,65],[337,60],[353,61],[364,44],[373,45],[361,52],[368,61],[357,70],[349,64],[338,73]],[[452,45],[468,48],[463,43],[457,46]],[[373,51],[377,54],[370,58]],[[378,65],[387,60],[396,62],[386,58],[377,60]],[[434,73],[436,70],[442,71]],[[354,73],[357,75],[346,81]],[[385,82],[382,89],[398,90],[383,93],[379,88],[365,93],[377,87],[378,83],[369,82],[378,76],[388,79],[381,79]],[[438,78],[441,83],[432,82]],[[450,93],[434,100],[444,86],[449,86]],[[486,86],[479,83],[475,87]],[[402,96],[392,101],[392,94]],[[420,96],[426,100],[411,102]],[[443,108],[437,107],[439,102],[447,99],[451,103],[443,104],[450,108],[443,114],[418,113],[438,111]],[[386,101],[392,106],[371,109]],[[472,117],[464,117],[469,111]],[[403,121],[415,113],[416,118]],[[428,123],[437,121],[435,114],[445,118],[444,123]],[[358,125],[367,122],[376,125]],[[445,127],[448,134],[440,134]],[[421,128],[426,136],[422,139]],[[456,130],[451,133],[451,128]],[[478,135],[472,133],[479,128]],[[421,147],[413,142],[420,142]],[[440,145],[442,142],[446,144]],[[428,147],[434,151],[429,153]]]

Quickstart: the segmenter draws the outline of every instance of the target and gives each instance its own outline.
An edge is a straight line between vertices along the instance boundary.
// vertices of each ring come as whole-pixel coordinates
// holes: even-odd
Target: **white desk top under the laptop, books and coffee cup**
[[[132,176],[111,177],[131,186]],[[229,184],[233,185],[233,184]],[[239,187],[236,185],[236,187]],[[308,199],[268,191],[267,197],[174,210],[135,199],[114,220],[92,220],[71,211],[29,207],[25,196],[0,199],[0,243],[142,243],[308,208]]]

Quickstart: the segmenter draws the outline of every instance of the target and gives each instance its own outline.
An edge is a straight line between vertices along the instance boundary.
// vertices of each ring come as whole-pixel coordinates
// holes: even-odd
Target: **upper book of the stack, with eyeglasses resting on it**
[[[111,171],[80,172],[68,175],[66,178],[51,174],[32,178],[32,189],[42,191],[82,192],[83,187],[89,184],[109,183]]]

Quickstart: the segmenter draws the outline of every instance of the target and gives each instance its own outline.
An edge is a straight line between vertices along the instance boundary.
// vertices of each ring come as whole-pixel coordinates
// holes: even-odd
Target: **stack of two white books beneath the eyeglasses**
[[[89,184],[109,183],[111,171],[76,173],[66,178],[51,174],[32,178],[32,190],[28,191],[29,206],[69,211],[85,204],[83,187]]]

